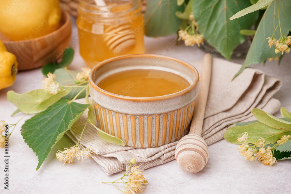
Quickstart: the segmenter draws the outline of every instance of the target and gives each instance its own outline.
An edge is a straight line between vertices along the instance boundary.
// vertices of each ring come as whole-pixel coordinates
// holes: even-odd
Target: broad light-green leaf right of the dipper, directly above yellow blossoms
[[[283,132],[281,134],[276,134],[270,138],[265,139],[265,143],[274,143],[274,142],[277,142],[277,140],[280,139],[282,135],[291,134],[291,131],[275,129],[263,123],[256,122],[249,125],[231,127],[228,130],[226,130],[226,132],[224,133],[224,138],[229,143],[243,144],[243,142],[237,141],[237,138],[239,138],[240,134],[244,132],[248,132],[248,137],[249,137],[249,139],[247,140],[248,143],[255,142],[254,140],[251,140],[251,139],[260,139],[260,137],[267,138],[276,133]]]

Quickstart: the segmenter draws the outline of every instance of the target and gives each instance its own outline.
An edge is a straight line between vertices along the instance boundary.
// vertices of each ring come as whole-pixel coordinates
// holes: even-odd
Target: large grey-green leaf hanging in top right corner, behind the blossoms
[[[274,29],[278,25],[278,7],[277,2],[279,3],[279,13],[281,21],[281,30],[283,35],[288,35],[291,29],[291,1],[282,0],[282,1],[273,1],[267,10],[265,11],[264,16],[261,19],[261,22],[257,28],[254,39],[252,41],[251,47],[246,56],[246,60],[242,64],[240,70],[235,74],[234,78],[238,76],[243,70],[249,65],[255,65],[257,63],[262,63],[268,58],[276,58],[281,56],[282,53],[275,53],[274,45],[270,48],[268,45],[268,40],[266,38],[272,37]],[[280,29],[277,28],[274,38],[278,40],[280,38]]]

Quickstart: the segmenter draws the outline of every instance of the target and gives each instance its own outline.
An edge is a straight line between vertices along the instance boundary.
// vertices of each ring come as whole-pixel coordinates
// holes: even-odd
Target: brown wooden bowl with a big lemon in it
[[[67,11],[62,10],[60,27],[45,36],[13,41],[0,33],[0,40],[7,50],[15,54],[18,70],[31,70],[59,58],[71,40],[72,23]],[[33,37],[33,33],[31,34]]]

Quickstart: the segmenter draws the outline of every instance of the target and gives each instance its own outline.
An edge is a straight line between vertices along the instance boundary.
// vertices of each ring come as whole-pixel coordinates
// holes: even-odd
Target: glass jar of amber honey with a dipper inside
[[[80,54],[88,67],[103,60],[145,52],[144,19],[140,0],[80,0],[77,27]]]

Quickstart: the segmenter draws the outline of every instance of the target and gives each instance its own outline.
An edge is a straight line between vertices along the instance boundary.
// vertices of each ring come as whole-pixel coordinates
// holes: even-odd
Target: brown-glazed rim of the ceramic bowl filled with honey
[[[191,68],[194,71],[194,73],[196,75],[196,79],[194,80],[194,82],[190,86],[188,86],[184,90],[180,90],[178,92],[168,94],[168,95],[154,96],[154,97],[130,97],[130,96],[123,96],[123,95],[119,95],[119,94],[114,94],[111,92],[107,92],[106,90],[103,90],[102,88],[98,87],[95,84],[95,82],[93,81],[93,74],[95,73],[95,71],[97,71],[97,69],[99,67],[101,67],[109,62],[116,61],[119,59],[125,59],[125,58],[131,59],[131,58],[142,58],[142,57],[160,57],[160,58],[164,58],[164,59],[170,59],[170,60],[176,61],[178,63],[181,63],[183,65],[186,65],[187,67]],[[129,55],[113,57],[113,58],[110,58],[110,59],[107,59],[107,60],[100,62],[98,65],[93,67],[93,69],[91,70],[91,72],[89,74],[88,80],[89,80],[90,86],[92,86],[95,90],[97,90],[98,92],[101,92],[104,95],[114,97],[117,99],[127,100],[127,101],[154,102],[154,101],[159,101],[159,100],[164,100],[164,99],[175,98],[175,97],[181,96],[183,94],[186,94],[188,92],[191,92],[191,90],[194,87],[196,87],[197,83],[199,82],[199,73],[193,65],[191,65],[190,63],[187,63],[183,60],[180,60],[178,58],[174,58],[174,57],[170,57],[170,56],[161,56],[161,55],[157,55],[157,54],[129,54]]]

